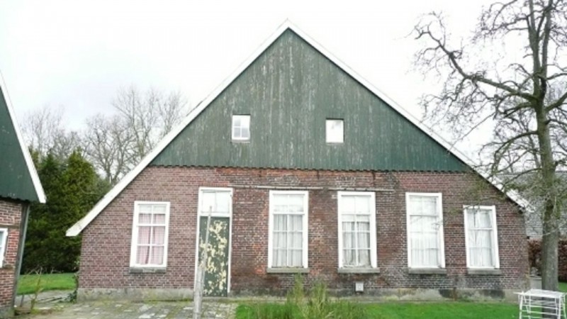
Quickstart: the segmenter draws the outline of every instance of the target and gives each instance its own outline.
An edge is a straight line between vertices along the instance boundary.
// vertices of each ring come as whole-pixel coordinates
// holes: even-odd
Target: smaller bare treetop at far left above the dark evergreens
[[[22,131],[28,145],[40,155],[52,153],[66,158],[80,148],[81,139],[75,131],[67,130],[63,125],[64,109],[43,106],[37,111],[26,114]]]

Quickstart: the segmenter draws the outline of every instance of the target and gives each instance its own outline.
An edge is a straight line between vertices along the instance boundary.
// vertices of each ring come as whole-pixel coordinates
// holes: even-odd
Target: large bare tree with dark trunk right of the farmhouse
[[[451,42],[439,13],[415,26],[424,42],[417,65],[439,77],[439,94],[422,104],[430,118],[457,136],[495,121],[490,174],[537,174],[542,203],[542,286],[558,289],[561,192],[557,167],[566,164],[567,4],[563,0],[509,0],[483,9],[470,39]],[[521,55],[515,53],[521,52]],[[554,94],[553,91],[556,89]],[[563,117],[562,117],[563,116]]]

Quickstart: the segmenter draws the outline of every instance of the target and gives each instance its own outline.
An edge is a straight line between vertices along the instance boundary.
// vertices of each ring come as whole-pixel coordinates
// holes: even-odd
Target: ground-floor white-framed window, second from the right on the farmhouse
[[[444,268],[441,193],[406,193],[408,267]]]

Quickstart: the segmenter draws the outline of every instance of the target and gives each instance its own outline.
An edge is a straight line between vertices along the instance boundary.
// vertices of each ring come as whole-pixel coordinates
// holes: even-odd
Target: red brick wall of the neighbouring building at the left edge
[[[22,205],[0,198],[0,228],[8,228],[4,264],[0,268],[0,316],[13,306],[13,283],[18,261]]]

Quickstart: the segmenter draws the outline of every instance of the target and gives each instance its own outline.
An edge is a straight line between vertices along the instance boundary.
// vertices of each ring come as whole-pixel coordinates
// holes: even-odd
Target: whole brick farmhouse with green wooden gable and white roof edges
[[[284,23],[67,235],[79,298],[511,296],[527,286],[520,196]]]

